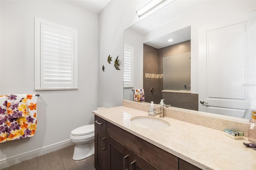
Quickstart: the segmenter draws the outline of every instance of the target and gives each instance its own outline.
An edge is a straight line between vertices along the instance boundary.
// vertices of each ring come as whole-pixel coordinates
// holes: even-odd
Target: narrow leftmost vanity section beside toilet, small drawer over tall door
[[[94,166],[96,170],[106,170],[106,121],[97,116],[94,119]]]

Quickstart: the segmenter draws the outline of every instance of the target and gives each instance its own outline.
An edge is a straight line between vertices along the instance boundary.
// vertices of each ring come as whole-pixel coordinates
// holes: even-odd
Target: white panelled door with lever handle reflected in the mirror
[[[250,119],[256,109],[255,13],[199,29],[199,111]]]

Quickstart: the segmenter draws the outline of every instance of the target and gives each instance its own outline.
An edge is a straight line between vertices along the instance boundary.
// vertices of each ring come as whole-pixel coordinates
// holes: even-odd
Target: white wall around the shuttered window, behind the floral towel
[[[98,15],[67,1],[0,3],[1,95],[40,94],[35,136],[1,143],[1,162],[69,140],[74,128],[94,123],[91,111],[98,107]],[[34,91],[35,16],[78,30],[78,90]]]

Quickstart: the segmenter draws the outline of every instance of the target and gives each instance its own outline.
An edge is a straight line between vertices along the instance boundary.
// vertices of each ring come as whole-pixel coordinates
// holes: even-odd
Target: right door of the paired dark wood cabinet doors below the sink
[[[130,169],[131,170],[158,170],[155,166],[144,160],[136,153],[130,151]]]

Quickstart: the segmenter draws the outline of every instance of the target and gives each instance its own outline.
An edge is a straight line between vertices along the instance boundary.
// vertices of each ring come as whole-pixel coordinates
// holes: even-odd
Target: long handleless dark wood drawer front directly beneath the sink
[[[106,132],[160,170],[178,170],[178,157],[107,122]]]

